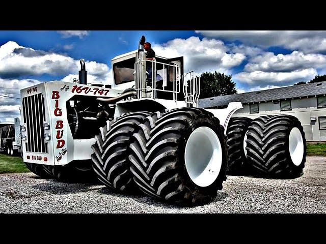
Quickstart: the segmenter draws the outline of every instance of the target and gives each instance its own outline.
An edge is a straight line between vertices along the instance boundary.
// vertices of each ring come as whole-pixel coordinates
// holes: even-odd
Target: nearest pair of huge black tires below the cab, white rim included
[[[91,156],[98,179],[164,201],[209,202],[226,180],[223,127],[198,108],[134,112],[101,128]]]

